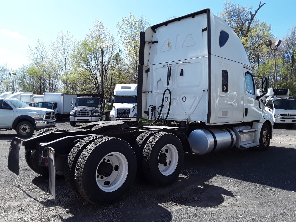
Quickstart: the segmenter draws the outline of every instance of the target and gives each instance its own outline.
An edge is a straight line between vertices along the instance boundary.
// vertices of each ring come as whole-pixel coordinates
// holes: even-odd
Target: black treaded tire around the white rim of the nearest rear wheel
[[[95,178],[99,163],[111,152],[118,152],[128,162],[128,172],[123,184],[112,192],[99,188]],[[88,202],[99,205],[111,204],[131,187],[136,176],[136,155],[128,142],[114,137],[102,137],[89,144],[80,155],[76,169],[75,181],[78,192]]]

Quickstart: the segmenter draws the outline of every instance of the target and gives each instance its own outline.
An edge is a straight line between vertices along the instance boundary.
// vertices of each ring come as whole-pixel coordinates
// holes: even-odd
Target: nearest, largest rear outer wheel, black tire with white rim
[[[124,140],[104,137],[84,149],[75,170],[79,193],[93,204],[110,204],[131,187],[136,155]]]

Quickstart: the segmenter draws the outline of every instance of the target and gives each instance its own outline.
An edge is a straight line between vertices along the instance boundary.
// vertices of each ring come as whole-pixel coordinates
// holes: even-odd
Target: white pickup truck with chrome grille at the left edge
[[[15,130],[20,137],[30,137],[34,130],[56,125],[53,110],[30,107],[18,99],[0,98],[0,130]]]

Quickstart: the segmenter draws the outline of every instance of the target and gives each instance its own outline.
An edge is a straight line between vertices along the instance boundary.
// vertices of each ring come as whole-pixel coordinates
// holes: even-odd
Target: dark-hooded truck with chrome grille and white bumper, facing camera
[[[71,126],[75,126],[76,123],[106,120],[104,97],[101,94],[77,94],[77,98],[72,99],[72,107],[70,111]]]

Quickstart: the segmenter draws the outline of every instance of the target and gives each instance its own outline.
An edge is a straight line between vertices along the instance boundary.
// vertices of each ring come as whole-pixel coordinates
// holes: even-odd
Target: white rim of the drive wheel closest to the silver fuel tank
[[[178,150],[173,144],[165,145],[158,155],[158,169],[164,176],[171,175],[178,165]]]

